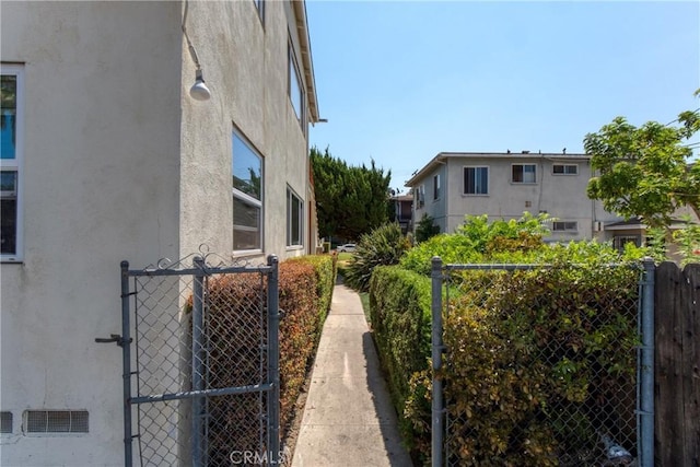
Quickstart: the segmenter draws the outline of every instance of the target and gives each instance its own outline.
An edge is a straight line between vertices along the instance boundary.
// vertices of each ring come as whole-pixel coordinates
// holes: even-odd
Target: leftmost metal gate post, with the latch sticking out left
[[[121,261],[121,367],[124,383],[124,465],[133,464],[131,452],[131,329],[129,323],[129,261]]]

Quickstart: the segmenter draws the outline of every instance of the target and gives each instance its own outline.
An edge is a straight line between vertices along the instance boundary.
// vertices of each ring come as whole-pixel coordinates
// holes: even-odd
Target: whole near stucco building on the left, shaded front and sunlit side
[[[305,7],[2,2],[0,21],[0,465],[120,466],[121,354],[94,340],[119,332],[119,262],[315,250]]]

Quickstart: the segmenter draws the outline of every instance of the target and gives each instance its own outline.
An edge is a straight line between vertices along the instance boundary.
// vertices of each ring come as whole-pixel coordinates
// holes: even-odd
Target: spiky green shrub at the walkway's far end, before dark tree
[[[361,292],[370,285],[372,270],[377,266],[398,264],[410,247],[397,223],[384,224],[360,237],[350,261],[348,261],[346,283]]]

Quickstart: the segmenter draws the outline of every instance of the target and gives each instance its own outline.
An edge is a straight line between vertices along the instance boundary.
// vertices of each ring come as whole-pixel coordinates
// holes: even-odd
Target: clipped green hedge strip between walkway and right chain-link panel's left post
[[[431,312],[430,279],[398,266],[380,266],[370,282],[370,317],[374,341],[384,367],[392,400],[399,415],[405,440],[419,440],[404,409],[407,400],[425,410],[424,387],[410,384],[413,375],[428,370]],[[428,402],[428,408],[430,407]],[[430,413],[430,410],[428,409]],[[430,415],[428,416],[430,425]]]

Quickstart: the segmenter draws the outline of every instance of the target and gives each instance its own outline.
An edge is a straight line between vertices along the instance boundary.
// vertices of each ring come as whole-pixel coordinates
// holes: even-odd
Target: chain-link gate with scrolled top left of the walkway
[[[206,257],[205,257],[206,258]],[[125,465],[278,465],[278,259],[121,264]]]

